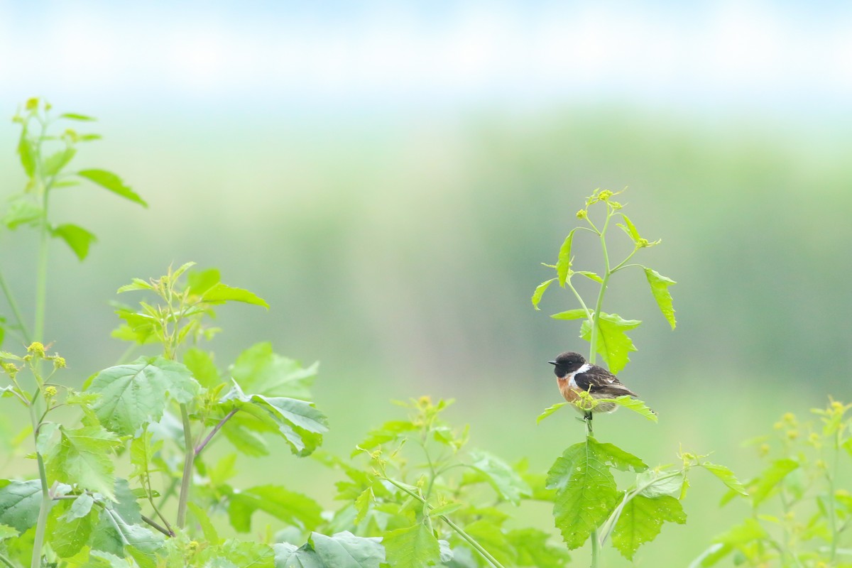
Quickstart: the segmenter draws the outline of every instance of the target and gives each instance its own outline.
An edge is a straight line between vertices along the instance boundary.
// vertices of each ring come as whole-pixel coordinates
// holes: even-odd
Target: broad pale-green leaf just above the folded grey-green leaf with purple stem
[[[294,359],[273,353],[272,344],[264,342],[240,353],[229,373],[246,393],[308,400],[319,366],[302,367]]]

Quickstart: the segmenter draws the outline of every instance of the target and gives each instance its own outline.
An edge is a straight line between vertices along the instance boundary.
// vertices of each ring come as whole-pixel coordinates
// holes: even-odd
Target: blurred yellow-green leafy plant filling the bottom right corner
[[[832,400],[801,422],[788,412],[774,433],[750,440],[766,463],[746,482],[751,515],[713,539],[693,566],[711,566],[733,556],[736,565],[800,568],[852,566],[849,541],[852,494],[852,404]],[[728,503],[733,495],[726,495]]]

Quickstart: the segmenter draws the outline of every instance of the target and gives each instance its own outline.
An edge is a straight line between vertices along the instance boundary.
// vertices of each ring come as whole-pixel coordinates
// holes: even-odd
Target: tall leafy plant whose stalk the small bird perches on
[[[558,282],[561,287],[571,290],[580,307],[556,313],[551,317],[562,320],[582,319],[580,337],[590,342],[589,362],[594,364],[596,355],[600,354],[613,373],[623,370],[630,360],[630,352],[636,351],[626,332],[641,324],[635,319],[625,319],[615,313],[603,312],[604,296],[613,274],[630,267],[642,269],[648,278],[653,297],[671,329],[674,329],[676,324],[668,290],[675,282],[652,268],[630,263],[639,250],[659,244],[660,241],[650,242],[640,236],[636,226],[622,211],[623,205],[613,200],[617,194],[608,190],[596,190],[586,199],[585,207],[579,210],[577,217],[586,221],[587,226],[575,227],[568,233],[559,250],[556,264],[544,265],[553,268],[556,277],[539,284],[532,298],[533,307],[538,309],[538,304],[550,284]],[[590,208],[595,206],[598,206],[596,209],[601,206],[604,209],[603,220],[597,224],[590,216]],[[607,249],[607,232],[613,219],[617,221],[619,218],[623,222],[618,226],[632,242],[633,250],[624,260],[613,264]],[[573,270],[572,245],[578,231],[591,232],[598,238],[603,257],[602,276],[590,271]],[[572,278],[578,274],[599,285],[594,309],[584,301],[572,282]],[[616,445],[599,442],[592,432],[591,416],[595,406],[601,403],[619,404],[649,420],[657,421],[657,416],[641,400],[627,396],[595,399],[590,393],[580,393],[579,399],[573,403],[555,404],[538,416],[540,422],[566,404],[572,404],[584,413],[584,442],[571,445],[562,452],[548,472],[546,486],[556,491],[553,516],[562,539],[571,549],[579,548],[590,540],[593,568],[598,565],[600,548],[607,539],[612,540],[613,546],[625,558],[633,559],[643,543],[650,542],[659,535],[665,522],[686,522],[681,500],[686,494],[690,469],[704,468],[721,479],[732,491],[744,492],[734,473],[723,466],[706,462],[705,456],[683,453],[679,456],[682,462],[680,468],[667,466],[650,469],[639,457]],[[636,473],[636,481],[625,490],[619,490],[613,469]]]

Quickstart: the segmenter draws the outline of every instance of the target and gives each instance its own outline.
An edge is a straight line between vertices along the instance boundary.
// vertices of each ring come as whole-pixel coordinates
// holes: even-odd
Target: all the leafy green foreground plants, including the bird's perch
[[[78,384],[68,369],[75,358],[64,349],[65,356],[53,351],[52,335],[45,332],[50,325],[72,325],[61,319],[46,324],[51,305],[48,243],[64,242],[83,261],[95,236],[77,224],[53,221],[55,208],[49,204],[57,190],[78,182],[146,203],[110,171],[72,169],[78,144],[98,137],[72,129],[57,135],[55,128],[60,121],[90,123],[92,118],[55,116],[49,105],[30,100],[14,120],[22,129],[18,153],[27,183],[24,192],[9,200],[3,225],[9,231],[36,230],[37,285],[34,315],[27,319],[22,306],[28,302],[18,300],[26,295],[16,294],[9,282],[17,273],[2,278],[9,318],[3,320],[7,350],[0,352],[0,360],[7,381],[0,385],[0,395],[4,406],[26,410],[30,422],[10,442],[13,450],[21,448],[11,458],[17,473],[0,480],[3,565],[556,568],[584,565],[583,559],[572,560],[567,549],[585,542],[590,542],[591,565],[608,565],[602,549],[607,542],[626,559],[638,559],[640,547],[656,539],[665,523],[686,522],[682,499],[690,484],[700,486],[699,479],[688,475],[695,468],[728,486],[725,502],[747,493],[753,509],[744,524],[715,540],[707,534],[693,543],[694,557],[711,542],[697,565],[725,556],[751,565],[774,560],[843,565],[841,537],[852,508],[841,479],[852,451],[848,407],[839,403],[820,410],[821,430],[799,425],[791,416],[782,419],[777,427],[780,453],[759,441],[769,465],[746,484],[708,456],[681,450],[676,465],[650,468],[642,458],[602,441],[609,420],[656,420],[642,401],[626,398],[607,402],[639,416],[622,412],[627,416],[597,420],[604,422],[597,437],[591,421],[585,421],[584,440],[559,450],[561,456],[547,473],[534,464],[538,455],[506,459],[472,448],[474,433],[466,426],[454,427],[447,418],[469,400],[455,406],[429,397],[400,403],[407,416],[383,422],[342,457],[322,445],[335,430],[354,429],[358,417],[348,408],[336,422],[335,413],[314,403],[317,364],[302,365],[279,355],[266,341],[249,341],[231,364],[217,363],[209,347],[221,331],[214,318],[220,311],[227,314],[222,307],[269,305],[260,295],[222,283],[218,270],[199,270],[192,262],[169,267],[158,278],[133,278],[118,289],[122,299],[142,296],[134,304],[114,304],[120,324],[112,336],[130,347],[116,364]],[[553,282],[567,288],[581,308],[555,318],[581,319],[580,336],[590,341],[589,360],[601,355],[611,370],[620,372],[635,350],[626,332],[640,322],[604,312],[613,274],[640,271],[672,329],[676,321],[669,293],[674,282],[631,263],[634,255],[659,241],[640,236],[615,195],[598,191],[587,199],[578,216],[588,227],[569,233],[556,264],[548,265],[556,277],[538,287],[533,304],[538,308]],[[607,241],[614,223],[629,244],[619,262],[610,258],[623,246]],[[573,270],[576,237],[585,232],[594,233],[602,246],[597,273]],[[583,277],[583,285],[599,286],[591,296],[594,302],[584,301],[586,289],[574,276]],[[96,337],[87,341],[101,344]],[[24,348],[13,347],[21,343]],[[376,393],[365,392],[367,409],[380,406]],[[492,400],[488,395],[481,399]],[[356,402],[363,401],[350,406]],[[586,395],[576,404],[590,410],[600,402]],[[539,422],[567,414],[556,412],[563,405],[545,410]],[[561,431],[571,432],[570,427]],[[288,454],[275,462],[272,472],[244,465]],[[24,456],[32,460],[18,459]],[[296,462],[307,463],[300,467],[314,472],[331,471],[338,479],[334,498],[327,489],[315,496],[296,491],[291,474]],[[711,491],[702,490],[699,496]],[[780,500],[777,514],[764,509],[774,497]],[[540,506],[552,508],[555,526],[523,514]],[[805,519],[797,517],[800,509]]]

